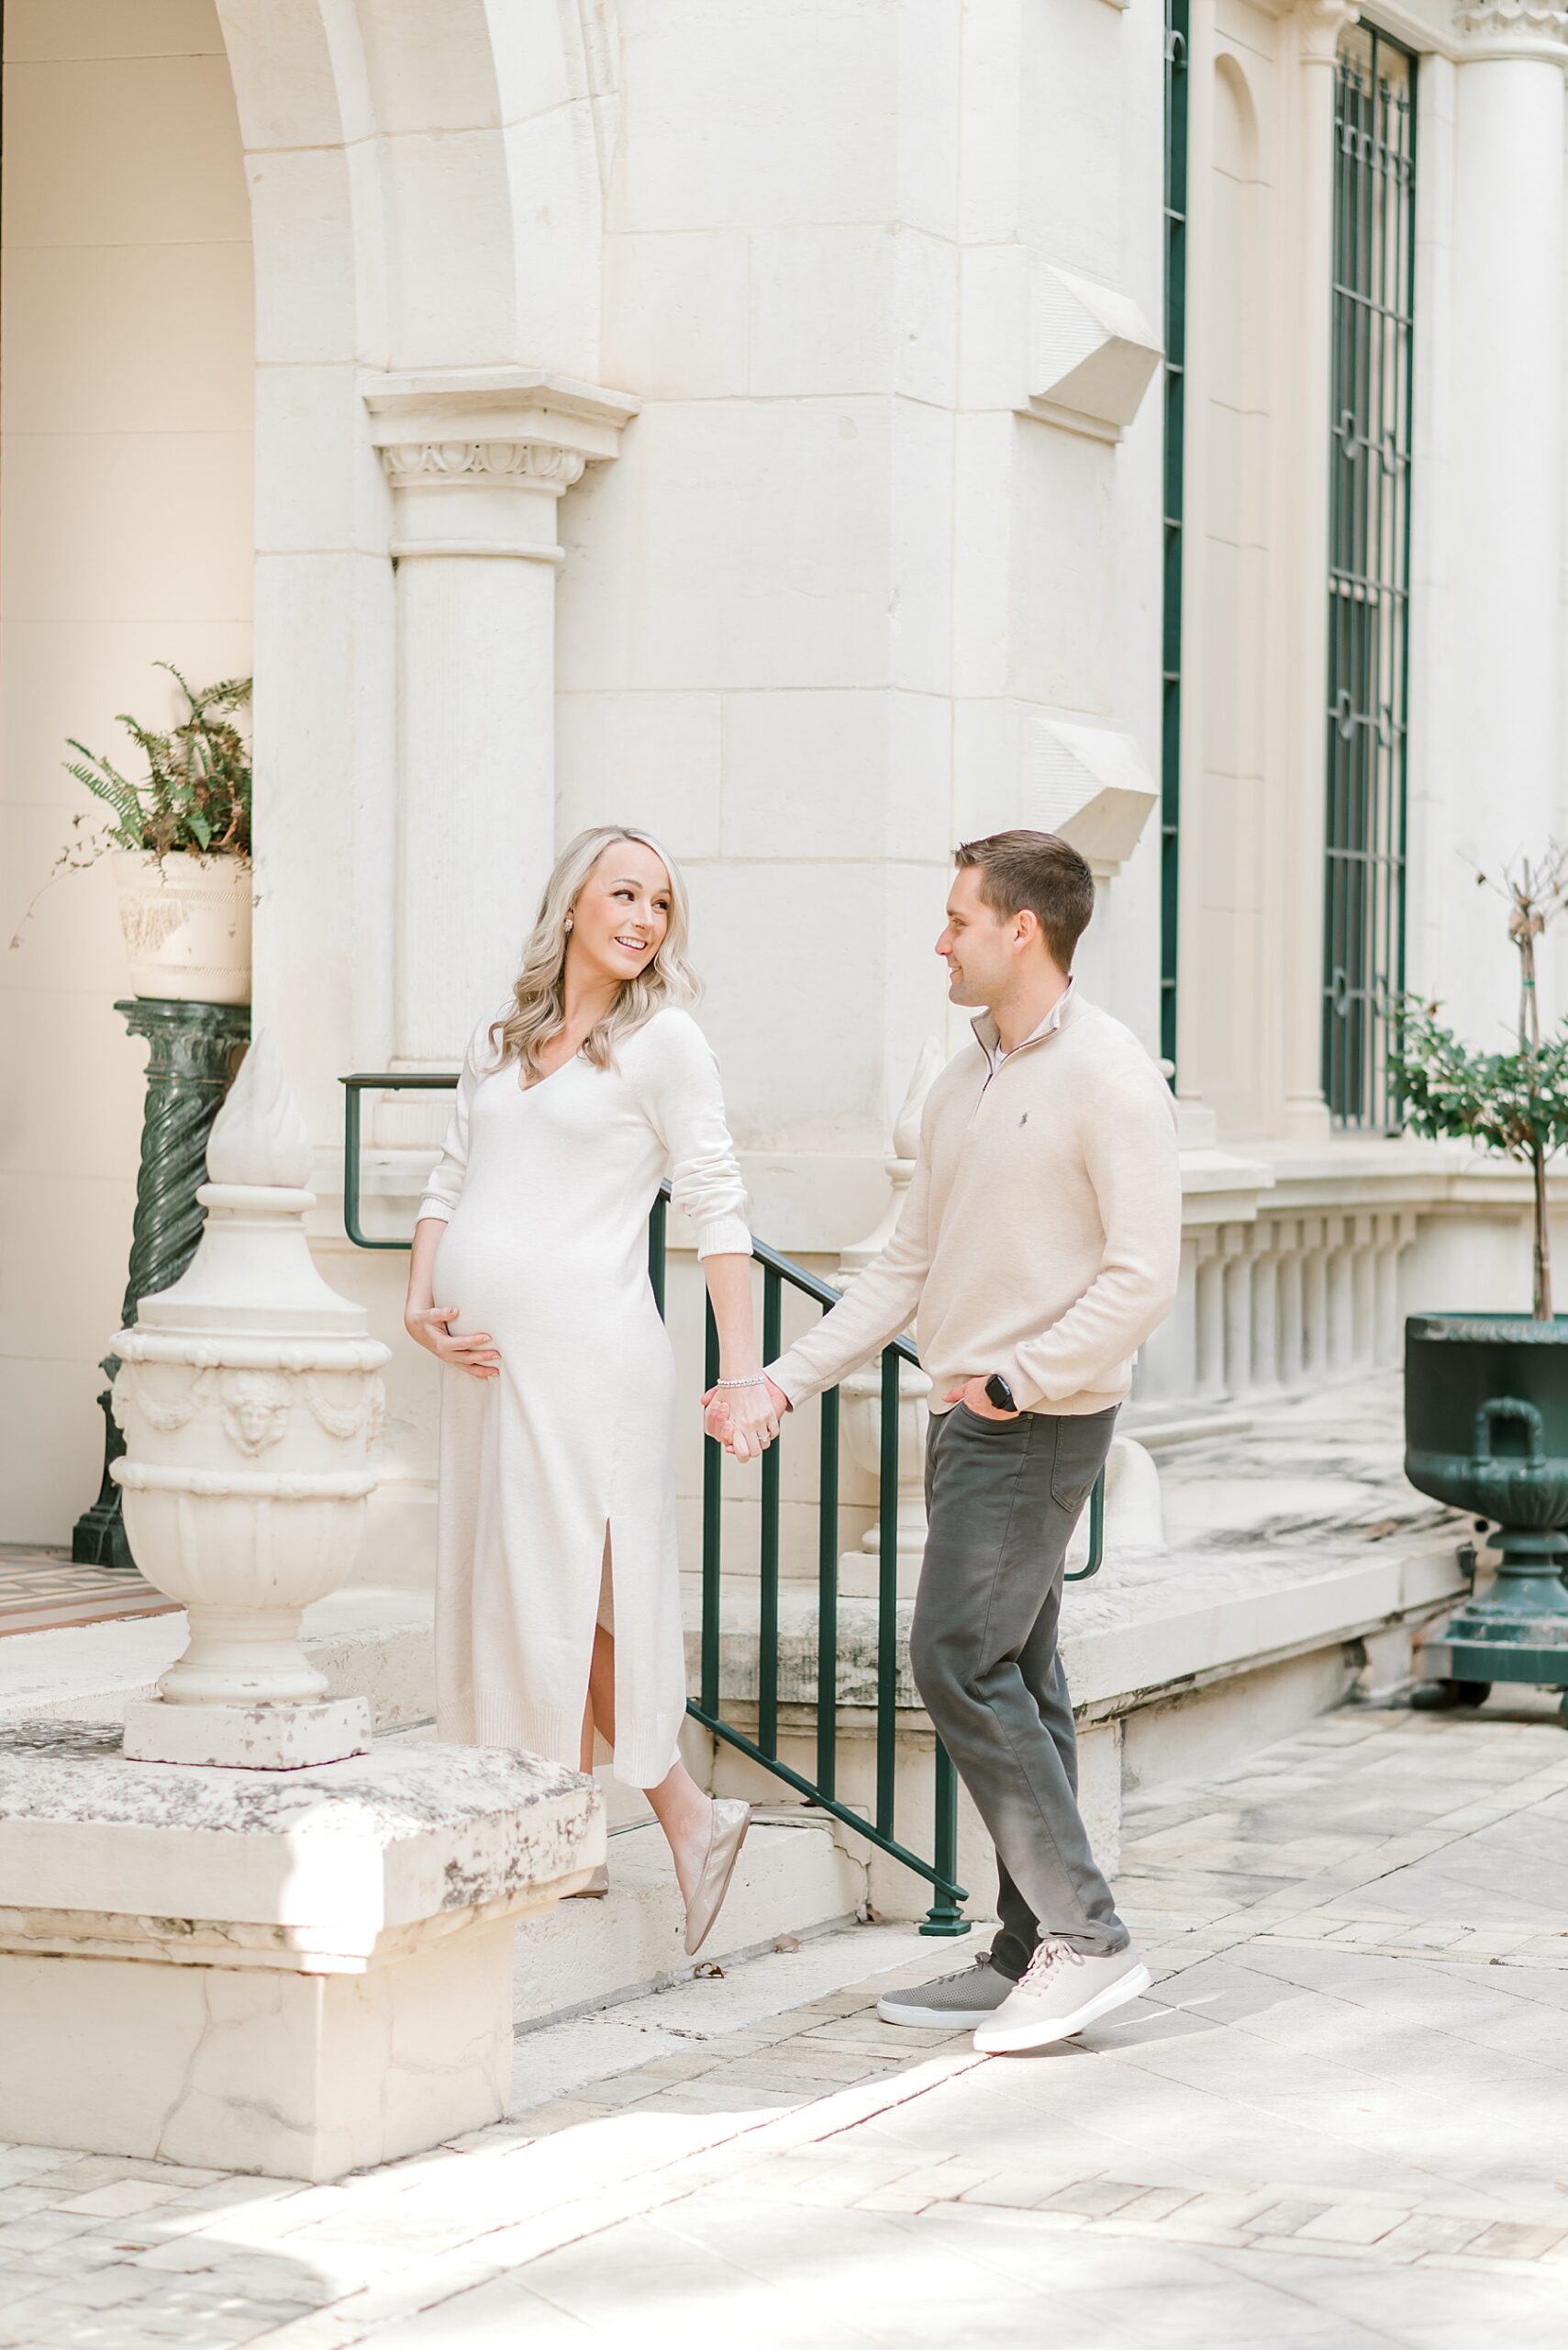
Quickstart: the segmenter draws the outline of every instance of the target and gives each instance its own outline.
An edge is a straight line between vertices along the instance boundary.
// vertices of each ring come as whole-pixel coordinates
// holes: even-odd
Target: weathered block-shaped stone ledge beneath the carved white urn
[[[237,1772],[0,1725],[0,2138],[340,2178],[484,2129],[514,1920],[601,1856],[594,1781],[538,1755]]]

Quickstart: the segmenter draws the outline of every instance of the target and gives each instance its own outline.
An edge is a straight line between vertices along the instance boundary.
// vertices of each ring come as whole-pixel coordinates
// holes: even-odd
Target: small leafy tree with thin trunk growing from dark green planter
[[[1488,886],[1488,874],[1476,874]],[[1437,1018],[1437,1003],[1406,996],[1392,1074],[1406,1126],[1432,1142],[1465,1137],[1481,1149],[1528,1161],[1535,1182],[1535,1321],[1552,1321],[1552,1236],[1547,1231],[1547,1159],[1568,1144],[1568,1020],[1540,1041],[1535,940],[1568,902],[1568,851],[1549,846],[1537,862],[1521,858],[1493,881],[1509,905],[1519,949],[1519,1041],[1512,1053],[1476,1053]]]

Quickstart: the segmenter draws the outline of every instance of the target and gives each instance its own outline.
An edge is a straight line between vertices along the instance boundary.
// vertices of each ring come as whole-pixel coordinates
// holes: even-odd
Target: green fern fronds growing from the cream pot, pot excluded
[[[70,740],[70,750],[82,757],[66,759],[66,773],[106,801],[115,825],[94,839],[87,855],[73,858],[66,851],[61,862],[87,865],[101,848],[138,848],[157,858],[181,851],[230,858],[251,853],[251,754],[230,717],[249,703],[251,679],[223,677],[192,693],[171,660],[160,660],[157,667],[174,677],[188,714],[169,733],[157,733],[120,712],[120,724],[148,761],[141,783],[122,776],[101,752]]]

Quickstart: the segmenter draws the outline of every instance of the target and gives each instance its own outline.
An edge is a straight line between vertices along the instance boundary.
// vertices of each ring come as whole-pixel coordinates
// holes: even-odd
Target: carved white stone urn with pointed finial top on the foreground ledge
[[[214,1121],[207,1173],[190,1267],[113,1342],[127,1535],[146,1579],[190,1612],[160,1697],[127,1706],[124,1753],[336,1762],[366,1751],[369,1708],[326,1701],[300,1614],[343,1584],[364,1535],[387,1349],[310,1257],[310,1135],[265,1034]]]

